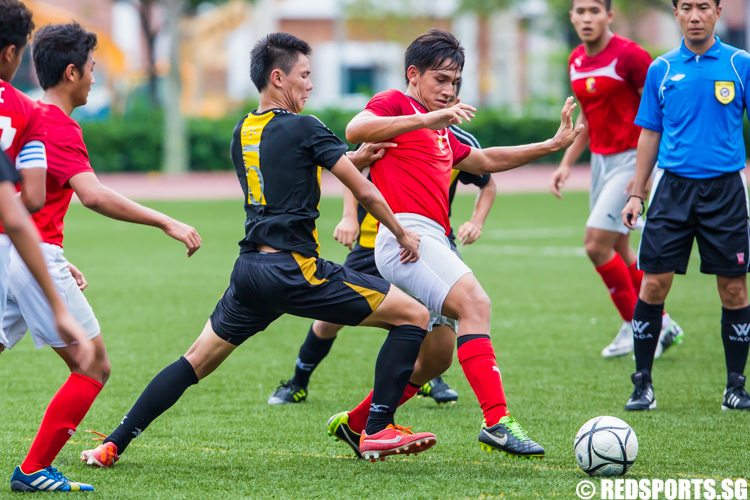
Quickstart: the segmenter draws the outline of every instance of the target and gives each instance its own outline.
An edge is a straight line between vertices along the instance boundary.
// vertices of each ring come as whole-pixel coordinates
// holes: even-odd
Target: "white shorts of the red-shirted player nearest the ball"
[[[451,250],[445,230],[437,222],[416,214],[396,214],[406,229],[419,234],[420,258],[402,264],[401,248],[393,233],[380,224],[375,238],[375,265],[386,281],[408,293],[430,310],[430,330],[448,325],[458,332],[458,321],[441,314],[448,292],[471,269]]]

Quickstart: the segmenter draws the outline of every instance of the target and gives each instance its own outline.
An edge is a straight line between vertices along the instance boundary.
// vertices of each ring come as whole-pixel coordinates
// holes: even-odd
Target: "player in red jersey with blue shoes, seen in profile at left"
[[[86,281],[76,280],[63,255],[64,217],[73,193],[81,203],[107,217],[162,229],[187,247],[187,255],[200,248],[196,231],[164,214],[134,203],[99,183],[89,164],[81,128],[70,118],[86,104],[94,83],[97,37],[78,24],[50,25],[34,38],[33,58],[44,89],[40,101],[48,125],[47,185],[44,207],[33,215],[42,237],[42,252],[58,292],[83,326],[95,348],[94,361],[81,363],[78,345],[68,345],[54,328],[49,305],[27,267],[14,251],[10,261],[10,286],[3,316],[6,347],[12,348],[28,330],[37,348],[52,347],[71,371],[45,412],[41,427],[26,459],[11,477],[15,491],[92,490],[74,483],[51,467],[52,461],[75,432],[94,399],[109,378],[110,363],[100,335],[99,322],[82,293]]]

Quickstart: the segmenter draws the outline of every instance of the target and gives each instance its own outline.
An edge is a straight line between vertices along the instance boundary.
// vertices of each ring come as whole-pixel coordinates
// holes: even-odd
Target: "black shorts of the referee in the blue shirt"
[[[741,172],[688,179],[664,171],[654,184],[638,268],[685,274],[695,238],[702,273],[745,275],[749,230],[747,186]]]

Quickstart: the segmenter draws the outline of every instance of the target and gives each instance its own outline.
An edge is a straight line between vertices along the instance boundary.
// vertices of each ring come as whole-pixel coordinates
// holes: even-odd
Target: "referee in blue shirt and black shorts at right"
[[[664,301],[685,274],[698,240],[701,272],[716,275],[727,364],[723,410],[750,410],[745,364],[750,347],[747,298],[750,232],[742,120],[750,103],[750,54],[714,36],[721,0],[673,0],[682,44],[649,68],[636,125],[643,127],[633,192],[622,212],[631,229],[643,209],[657,161],[638,265],[635,389],[626,410],[656,408],[651,382]]]

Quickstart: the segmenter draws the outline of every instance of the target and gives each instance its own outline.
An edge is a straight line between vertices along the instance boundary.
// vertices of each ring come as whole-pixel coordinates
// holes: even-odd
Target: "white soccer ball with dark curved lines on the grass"
[[[573,442],[578,466],[589,476],[622,476],[638,457],[638,438],[615,417],[592,418]]]

